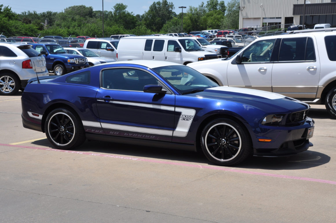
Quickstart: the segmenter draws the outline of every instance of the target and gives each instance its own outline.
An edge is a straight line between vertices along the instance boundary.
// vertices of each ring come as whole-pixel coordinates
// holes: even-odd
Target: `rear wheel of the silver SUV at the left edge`
[[[21,88],[20,80],[11,73],[0,74],[0,95],[16,94]]]

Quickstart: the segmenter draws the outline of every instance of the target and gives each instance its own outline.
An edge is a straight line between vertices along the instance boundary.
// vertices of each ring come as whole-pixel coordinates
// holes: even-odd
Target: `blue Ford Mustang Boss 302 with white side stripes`
[[[106,63],[29,81],[23,126],[52,146],[85,139],[203,150],[218,165],[250,155],[285,156],[312,144],[309,105],[280,94],[219,87],[192,68],[163,61]]]

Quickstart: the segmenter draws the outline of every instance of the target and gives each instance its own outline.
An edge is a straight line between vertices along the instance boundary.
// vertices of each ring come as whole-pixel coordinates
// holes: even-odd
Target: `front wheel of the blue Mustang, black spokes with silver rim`
[[[252,143],[241,124],[220,118],[207,124],[201,134],[203,153],[209,161],[221,166],[239,164],[249,157]]]

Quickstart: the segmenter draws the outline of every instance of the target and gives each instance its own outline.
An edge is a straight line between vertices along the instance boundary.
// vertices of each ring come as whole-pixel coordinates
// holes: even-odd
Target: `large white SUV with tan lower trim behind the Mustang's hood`
[[[261,37],[239,54],[188,66],[221,86],[275,92],[325,104],[336,118],[336,28]]]

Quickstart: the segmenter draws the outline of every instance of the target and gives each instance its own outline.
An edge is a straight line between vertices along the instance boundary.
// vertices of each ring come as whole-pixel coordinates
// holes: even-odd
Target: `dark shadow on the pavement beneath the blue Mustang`
[[[51,144],[46,139],[35,141],[33,144],[51,147]],[[216,166],[208,161],[201,152],[111,142],[86,141],[83,145],[74,149],[74,151],[113,153],[113,155],[140,157],[141,159],[162,159],[167,162],[181,161]],[[290,157],[250,157],[243,163],[230,167],[265,170],[300,170],[321,166],[329,161],[330,157],[328,155],[307,150]]]

